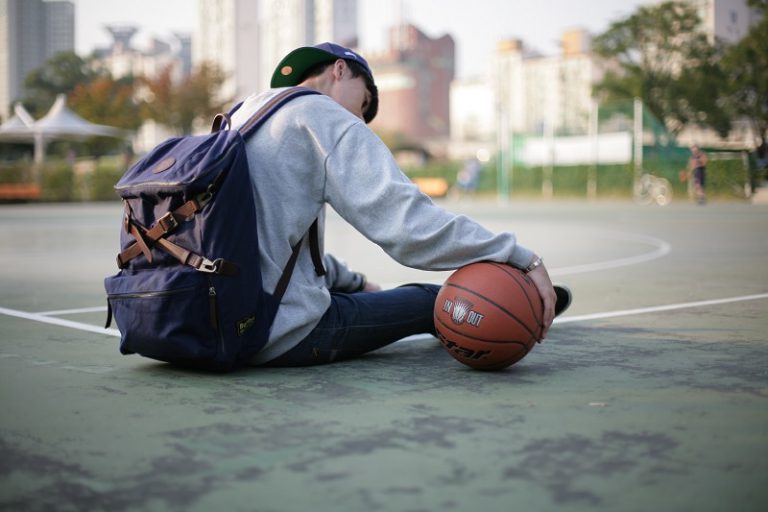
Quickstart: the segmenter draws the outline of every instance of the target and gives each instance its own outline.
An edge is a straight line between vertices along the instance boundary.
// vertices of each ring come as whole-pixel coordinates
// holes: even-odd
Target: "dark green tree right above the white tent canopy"
[[[34,117],[45,114],[58,94],[71,93],[82,83],[98,75],[88,61],[73,52],[62,52],[51,57],[43,67],[31,71],[24,80],[27,94],[22,104]]]

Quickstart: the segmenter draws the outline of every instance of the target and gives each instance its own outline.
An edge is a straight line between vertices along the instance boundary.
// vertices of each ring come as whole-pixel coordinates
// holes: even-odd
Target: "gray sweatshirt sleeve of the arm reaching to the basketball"
[[[513,233],[492,233],[435,205],[362,122],[339,138],[325,160],[325,173],[325,200],[403,265],[453,270],[489,260],[525,268],[533,259]]]

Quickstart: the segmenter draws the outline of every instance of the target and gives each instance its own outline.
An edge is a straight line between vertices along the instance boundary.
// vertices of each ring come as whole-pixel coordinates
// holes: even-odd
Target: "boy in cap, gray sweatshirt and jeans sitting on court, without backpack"
[[[272,89],[245,99],[232,117],[238,127],[285,87],[318,91],[281,107],[247,142],[259,225],[264,286],[274,288],[291,246],[319,220],[323,251],[325,207],[403,265],[453,270],[483,261],[527,272],[544,306],[542,338],[555,312],[570,303],[552,285],[542,259],[511,232],[492,233],[422,194],[366,126],[377,113],[378,90],[366,60],[333,43],[302,47],[278,64]],[[304,241],[307,244],[307,241]],[[254,365],[308,366],[359,356],[404,337],[435,334],[440,289],[408,284],[381,290],[327,254],[319,275],[302,250],[270,338]],[[559,299],[559,301],[558,301]]]

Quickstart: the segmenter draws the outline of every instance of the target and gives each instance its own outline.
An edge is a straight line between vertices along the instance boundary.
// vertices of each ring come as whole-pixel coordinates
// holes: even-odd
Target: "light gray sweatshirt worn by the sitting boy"
[[[243,124],[279,91],[248,97],[233,116],[233,125]],[[316,217],[324,250],[326,204],[408,267],[452,270],[491,260],[524,268],[533,258],[514,234],[491,233],[435,205],[400,171],[389,149],[363,121],[328,96],[290,101],[246,147],[260,219],[258,264],[267,290],[275,288],[291,246]],[[332,262],[336,283],[318,277],[306,239],[304,246],[269,342],[253,359],[255,364],[278,357],[306,337],[330,305],[328,286],[345,286],[351,279],[338,261]]]

